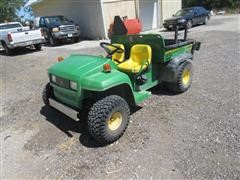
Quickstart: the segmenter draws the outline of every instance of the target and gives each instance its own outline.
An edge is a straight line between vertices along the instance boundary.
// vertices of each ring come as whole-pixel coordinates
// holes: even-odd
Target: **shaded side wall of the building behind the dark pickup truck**
[[[33,12],[35,16],[66,16],[79,24],[82,37],[105,37],[100,0],[44,0],[33,5]]]

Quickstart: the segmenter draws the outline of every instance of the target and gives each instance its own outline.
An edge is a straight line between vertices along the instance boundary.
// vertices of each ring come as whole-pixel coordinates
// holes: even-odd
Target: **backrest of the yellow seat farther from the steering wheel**
[[[151,63],[152,49],[146,44],[136,44],[131,48],[130,59],[139,65],[142,65],[145,61]]]

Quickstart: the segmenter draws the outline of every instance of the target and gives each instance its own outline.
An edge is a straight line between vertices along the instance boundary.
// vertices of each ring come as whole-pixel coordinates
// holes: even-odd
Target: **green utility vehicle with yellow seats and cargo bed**
[[[88,109],[87,128],[98,142],[119,139],[129,123],[130,107],[147,99],[150,88],[165,82],[169,90],[181,93],[192,82],[192,60],[200,42],[163,39],[159,34],[126,35],[115,18],[111,43],[100,43],[107,57],[70,55],[48,69],[50,82],[43,101],[62,113],[78,119]],[[118,29],[121,29],[118,28]],[[114,28],[113,28],[114,29]]]

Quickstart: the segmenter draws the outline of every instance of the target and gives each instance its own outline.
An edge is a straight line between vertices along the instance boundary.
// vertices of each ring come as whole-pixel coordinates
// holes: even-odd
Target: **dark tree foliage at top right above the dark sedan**
[[[240,0],[183,0],[183,7],[204,6],[207,9],[239,9]]]

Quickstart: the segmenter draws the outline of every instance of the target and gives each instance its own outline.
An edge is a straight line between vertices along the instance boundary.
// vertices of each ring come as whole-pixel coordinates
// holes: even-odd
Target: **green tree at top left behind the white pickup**
[[[0,0],[0,23],[19,20],[17,12],[25,3],[25,0]]]

